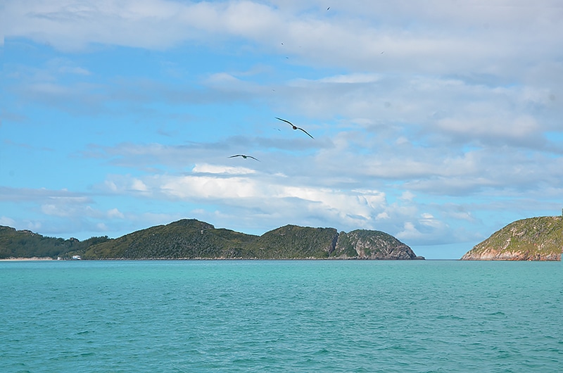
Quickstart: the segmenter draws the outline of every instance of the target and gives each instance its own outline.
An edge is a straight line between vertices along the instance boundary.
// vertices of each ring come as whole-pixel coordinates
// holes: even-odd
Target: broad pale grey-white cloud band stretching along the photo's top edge
[[[4,37],[30,37],[63,50],[92,43],[165,49],[191,39],[243,37],[280,53],[360,70],[416,66],[428,72],[477,69],[502,75],[518,68],[510,64],[514,58],[531,61],[526,53],[556,49],[563,10],[551,1],[455,7],[448,1],[377,2],[341,4],[334,7],[334,17],[327,17],[322,11],[301,13],[253,1],[106,0],[77,5],[59,0],[8,3],[4,13]],[[506,42],[512,37],[519,44]],[[538,41],[548,48],[538,48]]]

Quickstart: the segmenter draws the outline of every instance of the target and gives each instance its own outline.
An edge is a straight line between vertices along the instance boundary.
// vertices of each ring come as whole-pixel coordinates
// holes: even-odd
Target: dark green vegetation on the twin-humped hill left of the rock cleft
[[[336,229],[287,225],[262,236],[216,229],[198,220],[179,220],[95,245],[84,259],[97,258],[327,258]]]

